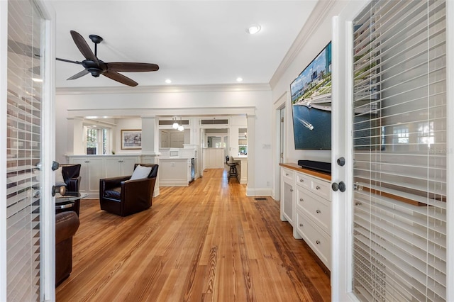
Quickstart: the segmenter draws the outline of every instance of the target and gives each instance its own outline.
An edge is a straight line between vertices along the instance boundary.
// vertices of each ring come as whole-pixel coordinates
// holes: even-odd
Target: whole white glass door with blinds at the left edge
[[[0,1],[0,11],[0,137],[4,138],[0,143],[0,167],[4,172],[0,183],[8,188],[0,198],[0,301],[52,301],[55,13],[39,0]],[[14,15],[17,11],[22,14]],[[14,33],[9,32],[11,24]],[[28,47],[21,47],[21,43]],[[40,74],[32,75],[31,67],[37,67]],[[40,77],[43,82],[32,84],[32,77]],[[31,238],[30,248],[27,238]],[[20,261],[16,260],[18,256]],[[21,268],[27,265],[30,269],[25,277],[18,278],[24,272]]]

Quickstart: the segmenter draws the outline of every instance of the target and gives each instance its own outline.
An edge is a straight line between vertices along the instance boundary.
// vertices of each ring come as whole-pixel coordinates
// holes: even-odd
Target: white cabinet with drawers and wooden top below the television
[[[302,237],[331,269],[331,176],[301,169],[296,164],[281,164],[281,184],[281,219],[290,222],[287,209],[291,208],[294,237]],[[286,186],[293,189],[291,207],[287,204]]]

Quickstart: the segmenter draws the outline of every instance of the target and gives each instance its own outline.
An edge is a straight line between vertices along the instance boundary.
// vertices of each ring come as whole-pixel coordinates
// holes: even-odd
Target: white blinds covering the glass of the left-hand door
[[[40,301],[41,21],[33,1],[8,1],[8,301]]]

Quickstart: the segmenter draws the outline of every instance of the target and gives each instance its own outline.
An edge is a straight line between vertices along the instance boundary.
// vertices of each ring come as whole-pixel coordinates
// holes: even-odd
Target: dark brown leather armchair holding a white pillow
[[[139,164],[134,164],[134,169]],[[128,216],[150,208],[157,177],[157,164],[140,164],[151,167],[148,177],[133,179],[131,176],[99,179],[99,204],[101,210],[119,216]]]

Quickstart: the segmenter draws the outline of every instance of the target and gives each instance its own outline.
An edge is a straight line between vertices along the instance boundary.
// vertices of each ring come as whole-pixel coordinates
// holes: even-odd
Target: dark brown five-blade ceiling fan
[[[72,61],[66,59],[56,58],[58,61],[62,62],[69,62],[74,64],[79,64],[84,67],[82,72],[78,72],[74,74],[70,79],[79,79],[79,77],[83,77],[85,74],[92,74],[93,77],[99,77],[99,74],[104,75],[104,77],[108,77],[109,79],[113,79],[116,82],[120,82],[121,84],[125,84],[128,86],[137,86],[138,83],[133,81],[128,77],[125,77],[123,74],[119,74],[118,72],[155,72],[159,69],[159,66],[156,64],[150,63],[138,63],[138,62],[111,62],[106,63],[101,61],[97,57],[97,45],[101,43],[103,40],[99,35],[89,35],[90,40],[94,43],[94,53],[90,49],[89,45],[85,41],[84,37],[77,33],[77,31],[70,30],[72,40],[76,43],[77,48],[79,51],[82,52],[84,55],[85,60],[82,62],[79,61]]]

